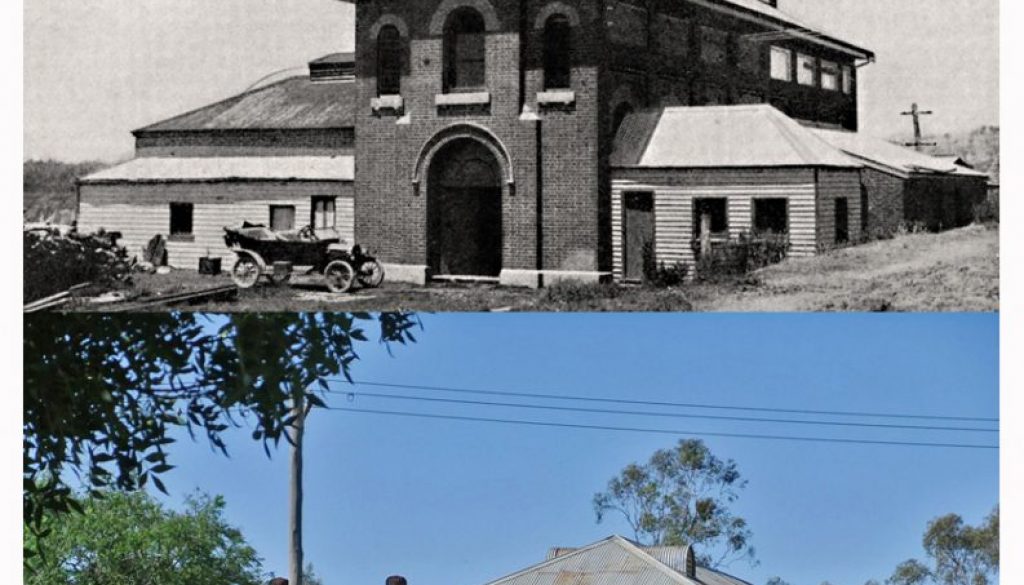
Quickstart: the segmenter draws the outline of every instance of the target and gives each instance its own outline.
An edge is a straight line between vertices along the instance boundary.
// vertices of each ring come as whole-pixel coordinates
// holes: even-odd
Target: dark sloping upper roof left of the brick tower
[[[330,55],[329,55],[330,56]],[[355,84],[291,77],[228,97],[135,132],[351,128]]]

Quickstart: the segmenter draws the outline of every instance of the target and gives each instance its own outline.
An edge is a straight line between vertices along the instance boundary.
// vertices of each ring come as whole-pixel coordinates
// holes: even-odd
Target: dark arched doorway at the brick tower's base
[[[427,262],[434,275],[497,277],[502,270],[502,169],[479,140],[452,140],[432,157]]]

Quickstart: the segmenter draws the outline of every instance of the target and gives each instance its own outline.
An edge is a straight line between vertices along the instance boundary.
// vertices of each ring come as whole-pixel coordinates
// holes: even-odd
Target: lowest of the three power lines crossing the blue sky
[[[586,429],[586,430],[610,430],[618,432],[644,432],[650,434],[687,434],[695,436],[720,436],[728,438],[755,438],[764,441],[788,441],[796,443],[829,443],[829,444],[846,444],[846,445],[873,445],[873,446],[887,446],[887,447],[927,447],[927,448],[944,448],[944,449],[976,449],[976,450],[997,450],[999,447],[997,445],[972,445],[964,443],[925,443],[925,442],[909,442],[909,441],[873,441],[873,440],[862,440],[862,438],[835,438],[835,437],[823,437],[823,436],[796,436],[796,435],[776,435],[776,434],[754,434],[754,433],[739,433],[739,432],[713,432],[713,431],[696,431],[696,430],[675,430],[675,429],[663,429],[663,428],[642,428],[642,427],[629,427],[629,426],[606,426],[598,424],[578,424],[578,423],[567,423],[567,422],[547,422],[538,420],[521,420],[521,419],[505,419],[505,418],[485,418],[485,417],[472,417],[472,416],[458,416],[458,415],[441,415],[432,413],[413,413],[406,411],[387,411],[387,410],[374,410],[374,409],[349,409],[349,408],[339,408],[339,407],[327,407],[328,410],[337,412],[347,412],[356,414],[372,414],[381,416],[396,416],[396,417],[408,417],[408,418],[424,418],[424,419],[440,419],[440,420],[457,420],[466,422],[485,422],[485,423],[496,423],[496,424],[514,424],[514,425],[524,425],[524,426],[541,426],[541,427],[555,427],[555,428],[573,428],[573,429]]]

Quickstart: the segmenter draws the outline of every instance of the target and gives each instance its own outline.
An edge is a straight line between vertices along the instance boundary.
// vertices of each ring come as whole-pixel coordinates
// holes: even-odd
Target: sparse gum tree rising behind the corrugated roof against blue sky
[[[753,563],[746,520],[729,510],[745,486],[734,461],[719,459],[702,441],[682,440],[612,477],[594,496],[594,511],[598,523],[608,512],[621,513],[642,544],[694,545],[706,567],[737,558]]]

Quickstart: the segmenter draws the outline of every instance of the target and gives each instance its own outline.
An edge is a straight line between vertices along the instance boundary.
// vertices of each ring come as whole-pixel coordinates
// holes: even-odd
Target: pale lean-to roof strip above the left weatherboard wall
[[[214,180],[343,180],[354,177],[351,156],[336,157],[152,157],[92,173],[83,183]]]

